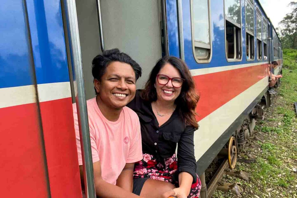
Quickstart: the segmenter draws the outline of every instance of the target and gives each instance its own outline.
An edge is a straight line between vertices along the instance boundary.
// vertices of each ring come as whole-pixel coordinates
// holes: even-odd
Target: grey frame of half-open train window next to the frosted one
[[[242,61],[242,56],[243,56],[243,54],[242,54],[242,7],[241,7],[241,1],[244,1],[244,0],[239,0],[239,7],[240,7],[240,23],[241,24],[238,24],[238,23],[236,23],[236,22],[233,22],[233,20],[228,20],[228,17],[226,16],[226,12],[225,12],[225,0],[224,0],[224,6],[223,6],[223,9],[224,9],[224,28],[225,28],[225,57],[226,57],[226,60],[228,61],[228,62],[238,62],[238,61]],[[240,49],[238,49],[238,50],[240,50],[240,52],[241,52],[241,54],[240,54],[240,58],[228,58],[228,53],[227,53],[227,34],[226,34],[226,30],[227,30],[227,26],[226,26],[226,21],[228,20],[228,23],[231,23],[231,25],[233,25],[234,27],[233,28],[235,28],[234,29],[234,31],[235,31],[235,33],[234,34],[237,34],[237,32],[236,32],[236,28],[239,28],[240,29],[240,42],[238,42],[239,44],[240,44]],[[236,38],[236,36],[235,36],[235,38]],[[236,42],[237,42],[237,40],[236,40]]]

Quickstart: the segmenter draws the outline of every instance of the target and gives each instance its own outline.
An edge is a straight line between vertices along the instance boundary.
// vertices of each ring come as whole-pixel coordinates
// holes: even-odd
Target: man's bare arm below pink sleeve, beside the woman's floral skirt
[[[122,189],[132,192],[133,191],[133,169],[134,163],[126,163],[119,178],[116,180],[116,185]]]

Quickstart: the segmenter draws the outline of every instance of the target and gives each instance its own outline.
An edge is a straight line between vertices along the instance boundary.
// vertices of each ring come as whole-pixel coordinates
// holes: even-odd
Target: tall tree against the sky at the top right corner
[[[281,25],[280,35],[283,48],[297,49],[297,2],[290,2],[288,5],[292,8],[292,12],[279,22]]]

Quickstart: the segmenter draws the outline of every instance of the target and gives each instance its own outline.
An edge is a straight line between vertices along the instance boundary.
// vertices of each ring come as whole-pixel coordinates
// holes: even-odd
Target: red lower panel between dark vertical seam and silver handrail
[[[71,98],[40,103],[52,197],[82,197]]]

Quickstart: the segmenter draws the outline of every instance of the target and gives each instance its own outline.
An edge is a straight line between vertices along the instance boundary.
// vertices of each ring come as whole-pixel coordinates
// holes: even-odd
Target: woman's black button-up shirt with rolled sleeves
[[[134,110],[140,121],[142,152],[154,155],[161,161],[171,157],[177,148],[177,165],[179,172],[188,172],[196,182],[196,160],[194,156],[193,126],[186,126],[179,115],[178,106],[168,121],[159,126],[153,113],[151,102],[146,102],[140,97],[141,90],[137,90],[135,98],[127,106]]]

